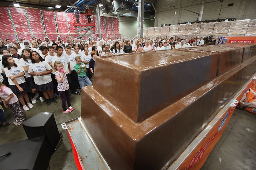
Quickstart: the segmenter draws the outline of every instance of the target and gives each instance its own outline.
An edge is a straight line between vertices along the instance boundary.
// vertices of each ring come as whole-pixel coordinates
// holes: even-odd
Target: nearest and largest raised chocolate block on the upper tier
[[[94,89],[141,122],[213,80],[217,59],[176,50],[97,58]]]

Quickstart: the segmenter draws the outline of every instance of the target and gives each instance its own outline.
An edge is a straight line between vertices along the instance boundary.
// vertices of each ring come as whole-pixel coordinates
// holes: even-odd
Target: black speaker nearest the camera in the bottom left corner
[[[0,169],[47,170],[52,150],[44,136],[0,145]]]

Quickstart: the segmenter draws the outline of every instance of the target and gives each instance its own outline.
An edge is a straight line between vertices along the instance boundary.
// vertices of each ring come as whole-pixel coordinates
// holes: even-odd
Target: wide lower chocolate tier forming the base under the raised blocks
[[[93,86],[82,91],[82,120],[112,169],[160,169],[198,133],[256,72],[256,57],[141,123],[134,123]]]

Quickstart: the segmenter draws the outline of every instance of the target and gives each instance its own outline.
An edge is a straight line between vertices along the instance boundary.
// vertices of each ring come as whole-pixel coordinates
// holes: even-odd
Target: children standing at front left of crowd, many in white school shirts
[[[7,50],[7,49],[6,49]],[[24,48],[19,57],[19,64],[14,56],[8,52],[1,53],[3,73],[8,79],[8,88],[4,81],[0,80],[0,96],[4,106],[10,107],[13,111],[14,125],[20,125],[25,121],[23,110],[27,111],[33,108],[36,103],[35,93],[38,91],[41,102],[46,99],[46,104],[57,103],[54,99],[55,94],[59,95],[62,101],[63,113],[70,113],[74,110],[71,106],[70,92],[79,95],[76,88],[82,88],[85,85],[92,85],[94,75],[94,63],[97,52],[92,51],[86,60],[81,59],[79,55],[71,52],[71,48],[66,46],[42,47],[41,54]],[[63,54],[65,50],[66,54]],[[87,49],[88,50],[88,49]],[[44,53],[46,52],[47,53]],[[49,52],[49,53],[48,53]],[[88,52],[85,49],[85,54]],[[42,54],[44,57],[42,57]],[[88,65],[90,68],[88,68]],[[88,69],[92,73],[92,82],[87,77]],[[1,70],[1,69],[0,69]],[[55,89],[56,88],[56,89]],[[29,95],[31,95],[31,103]],[[55,96],[56,97],[56,96]],[[24,100],[25,99],[25,100]],[[26,104],[27,103],[27,104]],[[67,107],[66,107],[67,104]],[[0,108],[1,109],[1,108]],[[6,120],[0,110],[0,126],[7,126]]]

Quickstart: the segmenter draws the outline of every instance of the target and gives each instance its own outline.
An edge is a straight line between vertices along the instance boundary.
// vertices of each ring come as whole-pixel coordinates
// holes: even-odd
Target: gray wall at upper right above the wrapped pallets
[[[227,6],[228,4],[233,6]],[[221,6],[222,4],[222,6]],[[180,9],[193,11],[200,14],[202,0],[187,1],[187,0],[157,0],[156,1],[156,25],[172,24],[176,25],[179,22],[192,22],[197,20],[197,14]],[[236,18],[241,19],[256,19],[256,0],[205,0],[202,20]],[[180,15],[180,18],[179,18]]]

